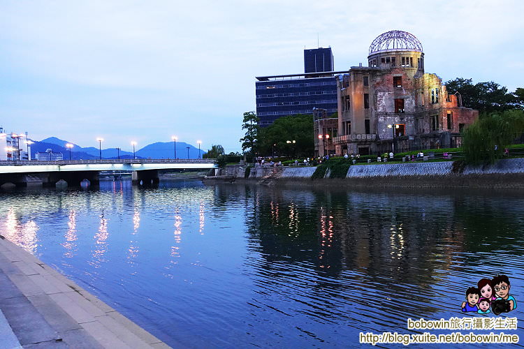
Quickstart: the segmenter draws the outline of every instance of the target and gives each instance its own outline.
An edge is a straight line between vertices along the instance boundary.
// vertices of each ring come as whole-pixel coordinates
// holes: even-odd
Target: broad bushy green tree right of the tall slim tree
[[[275,149],[280,156],[312,156],[313,116],[297,114],[279,117],[270,126],[261,129],[259,138],[259,151],[262,155],[272,155]]]

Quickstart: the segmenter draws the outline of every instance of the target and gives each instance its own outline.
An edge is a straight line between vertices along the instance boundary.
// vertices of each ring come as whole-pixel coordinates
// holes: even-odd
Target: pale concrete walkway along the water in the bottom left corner
[[[0,349],[170,348],[1,235],[0,290]]]

